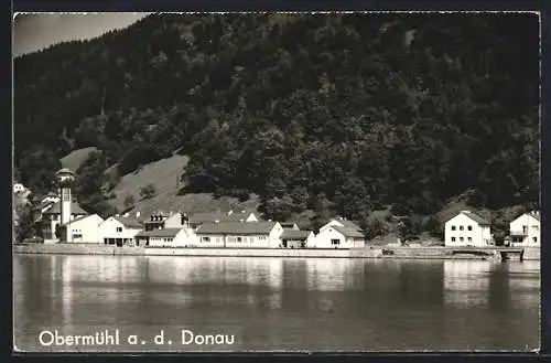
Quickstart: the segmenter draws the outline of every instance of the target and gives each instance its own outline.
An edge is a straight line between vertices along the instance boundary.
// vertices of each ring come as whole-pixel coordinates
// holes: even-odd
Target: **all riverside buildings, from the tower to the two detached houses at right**
[[[262,221],[255,212],[156,212],[139,221],[129,215],[104,220],[89,214],[71,195],[74,173],[57,172],[58,195],[48,195],[33,209],[44,243],[102,243],[159,247],[251,248],[354,248],[366,244],[365,231],[346,218],[334,218],[317,234],[295,223]],[[539,246],[540,214],[525,213],[510,222],[511,246]],[[494,245],[490,222],[471,211],[461,211],[444,225],[444,245]]]

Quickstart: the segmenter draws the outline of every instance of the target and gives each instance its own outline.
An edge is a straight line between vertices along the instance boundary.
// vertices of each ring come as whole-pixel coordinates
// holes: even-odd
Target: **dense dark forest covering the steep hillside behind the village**
[[[101,170],[177,150],[182,193],[257,193],[274,218],[537,203],[539,60],[537,14],[151,15],[14,61],[17,173],[46,191],[97,147],[94,207]]]

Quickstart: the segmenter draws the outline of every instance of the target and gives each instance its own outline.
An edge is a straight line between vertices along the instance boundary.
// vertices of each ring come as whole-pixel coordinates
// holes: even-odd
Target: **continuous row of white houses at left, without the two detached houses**
[[[214,212],[186,214],[152,213],[139,221],[129,215],[106,220],[88,214],[75,201],[71,217],[62,223],[62,202],[39,204],[35,221],[41,223],[45,243],[102,243],[158,247],[250,247],[250,248],[352,248],[365,245],[359,226],[335,218],[313,231],[295,223],[262,221],[255,212]]]

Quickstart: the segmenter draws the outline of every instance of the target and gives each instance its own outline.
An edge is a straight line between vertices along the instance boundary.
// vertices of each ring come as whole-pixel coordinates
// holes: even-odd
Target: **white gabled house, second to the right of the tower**
[[[142,228],[140,222],[125,216],[110,216],[99,226],[101,242],[117,246],[132,245]]]

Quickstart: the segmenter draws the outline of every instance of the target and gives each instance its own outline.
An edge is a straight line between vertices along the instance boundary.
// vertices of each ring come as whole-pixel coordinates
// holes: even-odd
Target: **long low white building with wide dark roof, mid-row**
[[[277,248],[283,227],[278,222],[204,223],[191,245],[197,247]]]

